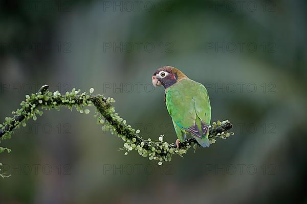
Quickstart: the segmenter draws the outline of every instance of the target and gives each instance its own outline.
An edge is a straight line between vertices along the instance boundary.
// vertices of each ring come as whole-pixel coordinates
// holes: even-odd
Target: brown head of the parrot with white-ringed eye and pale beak
[[[171,66],[164,66],[160,67],[155,73],[153,73],[152,84],[155,87],[163,85],[164,88],[168,88],[184,78],[187,78],[186,75],[184,75],[184,73],[179,69]]]

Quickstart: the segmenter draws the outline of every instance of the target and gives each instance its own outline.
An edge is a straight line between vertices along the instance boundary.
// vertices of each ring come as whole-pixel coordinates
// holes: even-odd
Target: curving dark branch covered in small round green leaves
[[[2,140],[10,138],[13,130],[20,127],[20,125],[26,126],[26,121],[30,118],[36,120],[36,115],[42,115],[42,111],[39,108],[59,110],[59,107],[64,106],[72,110],[75,107],[78,112],[88,114],[90,110],[83,110],[83,108],[95,106],[97,109],[95,116],[98,117],[97,122],[103,125],[102,129],[111,131],[112,134],[118,135],[118,137],[125,141],[124,147],[121,148],[126,150],[125,155],[129,151],[137,150],[143,157],[148,157],[149,160],[157,160],[158,164],[161,165],[165,161],[171,161],[172,155],[178,154],[183,157],[183,154],[192,145],[194,149],[198,146],[198,143],[193,138],[180,143],[179,148],[173,143],[169,144],[163,141],[163,135],[158,140],[143,139],[139,136],[139,130],[136,131],[133,127],[126,124],[126,121],[115,112],[112,106],[115,100],[113,98],[105,98],[103,95],[92,95],[93,88],[90,89],[90,93],[80,93],[80,90],[74,88],[71,92],[66,92],[64,95],[60,94],[59,91],[52,93],[48,88],[48,85],[44,85],[36,94],[26,95],[26,100],[20,104],[21,108],[12,112],[14,116],[12,118],[5,118],[5,122],[0,124],[0,138]],[[210,125],[209,132],[210,143],[215,143],[215,138],[226,139],[233,135],[230,132],[231,127],[232,124],[228,120],[213,122]],[[0,148],[0,152],[4,150],[10,151],[7,148]]]

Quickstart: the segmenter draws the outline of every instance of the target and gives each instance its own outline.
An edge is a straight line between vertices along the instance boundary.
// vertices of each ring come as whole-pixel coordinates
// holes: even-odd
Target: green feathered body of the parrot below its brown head
[[[167,88],[165,103],[178,139],[193,136],[202,146],[209,146],[208,126],[211,120],[209,96],[204,85],[183,79]]]

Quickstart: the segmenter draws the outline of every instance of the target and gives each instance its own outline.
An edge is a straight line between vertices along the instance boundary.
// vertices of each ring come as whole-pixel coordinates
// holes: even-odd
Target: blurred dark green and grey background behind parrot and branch
[[[170,65],[206,85],[212,121],[235,135],[162,167],[62,108],[2,141],[0,203],[307,203],[305,1],[1,1],[0,118],[43,84],[116,99],[141,130],[174,142]]]

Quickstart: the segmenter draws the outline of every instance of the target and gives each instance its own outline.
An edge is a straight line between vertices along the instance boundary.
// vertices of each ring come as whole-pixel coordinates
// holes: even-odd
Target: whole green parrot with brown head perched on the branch
[[[187,135],[201,146],[209,147],[211,106],[205,86],[171,66],[157,69],[152,75],[152,84],[165,88],[164,100],[178,137],[177,147]]]

